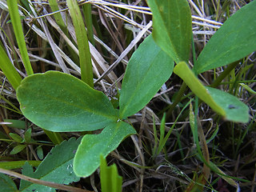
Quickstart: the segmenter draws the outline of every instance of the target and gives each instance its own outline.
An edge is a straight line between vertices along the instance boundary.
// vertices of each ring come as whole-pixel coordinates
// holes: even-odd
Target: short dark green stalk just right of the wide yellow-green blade
[[[83,14],[85,16],[85,21],[86,21],[86,28],[87,28],[87,33],[88,33],[88,39],[95,46],[95,41],[94,41],[94,28],[93,28],[93,18],[91,14],[91,5],[90,3],[84,4],[82,6]]]

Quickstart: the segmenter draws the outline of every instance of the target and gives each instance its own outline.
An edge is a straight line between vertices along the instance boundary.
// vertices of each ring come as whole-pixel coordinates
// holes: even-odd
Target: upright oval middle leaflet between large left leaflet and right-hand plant
[[[130,58],[122,81],[120,118],[141,110],[173,72],[173,60],[149,36]]]

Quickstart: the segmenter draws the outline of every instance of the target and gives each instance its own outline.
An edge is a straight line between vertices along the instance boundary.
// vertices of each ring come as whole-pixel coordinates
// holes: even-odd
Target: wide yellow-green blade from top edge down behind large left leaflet
[[[94,88],[93,69],[90,58],[90,48],[86,33],[86,27],[82,20],[78,2],[76,0],[67,0],[67,5],[70,8],[70,15],[74,24],[74,30],[78,42],[81,80],[86,82],[90,87]]]

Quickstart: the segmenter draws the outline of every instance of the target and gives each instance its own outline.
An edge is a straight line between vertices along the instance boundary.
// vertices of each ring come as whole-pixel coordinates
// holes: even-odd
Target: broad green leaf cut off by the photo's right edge
[[[256,50],[255,10],[256,2],[250,2],[224,22],[199,54],[194,65],[197,74],[226,66]]]

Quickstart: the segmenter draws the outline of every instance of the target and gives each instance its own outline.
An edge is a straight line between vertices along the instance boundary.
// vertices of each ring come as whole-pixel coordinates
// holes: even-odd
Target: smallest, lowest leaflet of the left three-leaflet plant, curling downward
[[[86,134],[74,157],[75,174],[90,176],[100,165],[100,155],[106,158],[130,134],[136,134],[136,131],[126,122],[111,123],[100,134]]]

